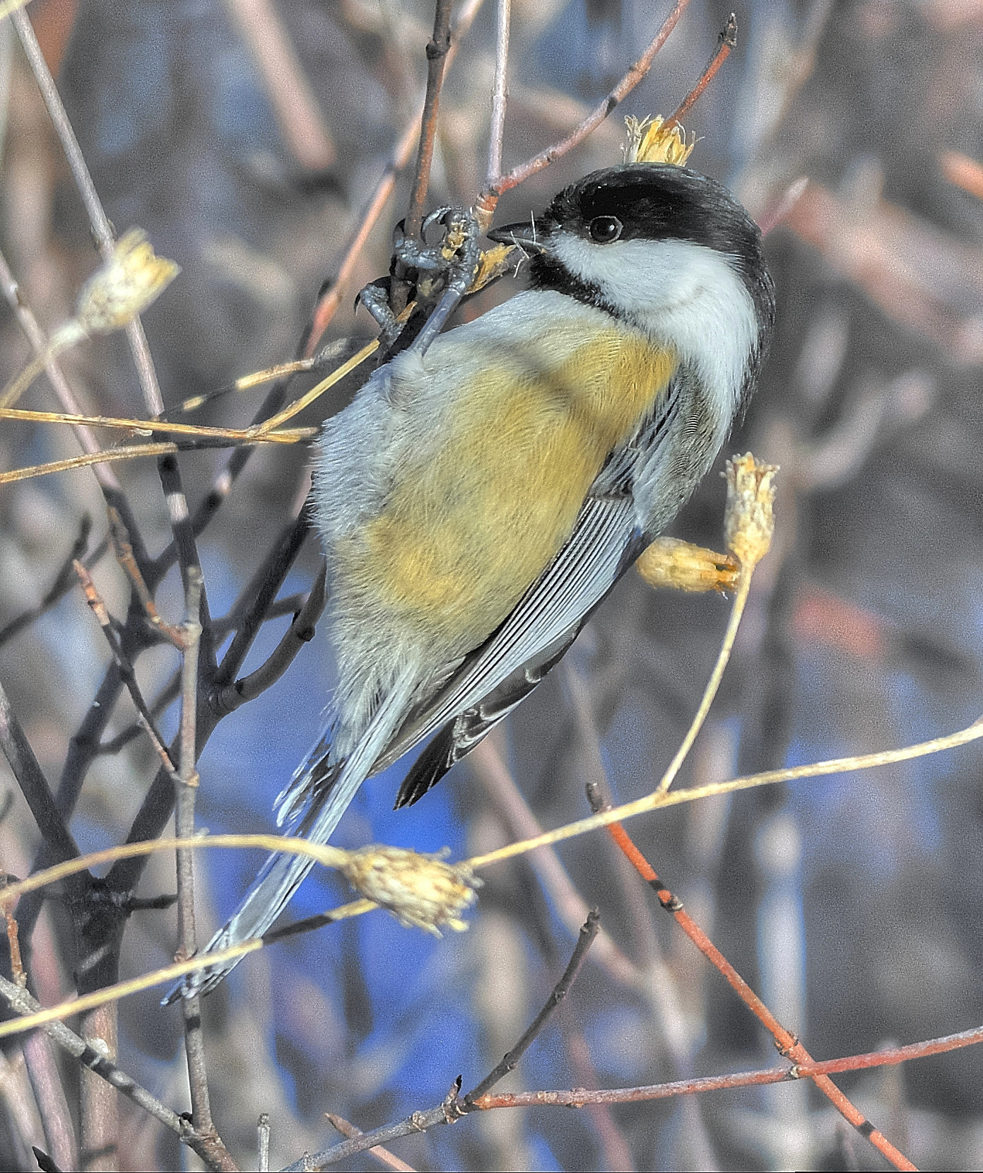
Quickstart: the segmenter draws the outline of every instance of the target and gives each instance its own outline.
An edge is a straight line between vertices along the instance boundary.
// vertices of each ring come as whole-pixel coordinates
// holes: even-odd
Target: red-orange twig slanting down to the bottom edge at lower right
[[[598,801],[597,795],[592,794],[590,789],[588,789],[588,800],[590,801],[592,809],[598,811],[602,808],[602,804]],[[669,888],[666,888],[656,874],[655,868],[635,846],[624,827],[618,822],[613,822],[608,827],[608,832],[642,879],[651,886],[662,907],[667,913],[672,914],[676,923],[686,934],[690,941],[692,941],[704,957],[706,957],[714,969],[717,969],[717,971],[724,977],[731,989],[734,990],[741,1002],[748,1008],[748,1010],[751,1010],[754,1017],[772,1035],[779,1052],[791,1059],[796,1067],[799,1067],[798,1073],[801,1074],[802,1072],[799,1065],[811,1064],[813,1062],[812,1056],[805,1046],[802,1046],[791,1031],[786,1030],[785,1026],[781,1025],[778,1018],[775,1018],[771,1010],[768,1010],[765,1003],[713,944],[710,937],[703,931],[696,921],[693,921],[690,914],[683,908],[683,902],[674,896]],[[827,1097],[827,1099],[829,1099],[840,1114],[849,1124],[852,1124],[854,1128],[861,1133],[861,1135],[866,1137],[895,1168],[915,1168],[908,1158],[895,1148],[887,1137],[875,1128],[863,1113],[850,1103],[850,1100],[842,1093],[842,1091],[840,1091],[828,1076],[814,1074],[812,1078],[816,1087],[823,1093],[823,1096]]]

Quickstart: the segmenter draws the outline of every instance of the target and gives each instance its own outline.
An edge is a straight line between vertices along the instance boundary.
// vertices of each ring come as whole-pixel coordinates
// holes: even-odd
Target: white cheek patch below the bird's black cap
[[[758,321],[751,294],[723,253],[689,240],[595,244],[562,231],[549,248],[632,325],[694,364],[730,423]]]

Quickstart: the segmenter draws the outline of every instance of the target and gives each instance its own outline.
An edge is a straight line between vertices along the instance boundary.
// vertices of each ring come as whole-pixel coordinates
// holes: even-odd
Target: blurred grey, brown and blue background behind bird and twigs
[[[506,168],[575,126],[669,8],[516,0]],[[145,229],[156,251],[182,265],[144,319],[165,401],[291,358],[416,117],[432,6],[35,0],[28,13],[110,219],[120,232]],[[524,218],[565,183],[619,161],[621,115],[669,115],[727,13],[692,0],[624,107],[503,198],[499,221]],[[738,48],[686,123],[699,138],[690,165],[728,183],[761,219],[796,179],[809,182],[767,238],[777,340],[724,453],[750,448],[781,466],[775,545],[680,786],[901,746],[983,710],[983,4],[747,0],[737,15]],[[487,0],[447,76],[432,206],[470,204],[483,187],[494,33]],[[96,259],[8,21],[0,137],[0,245],[50,331],[70,316]],[[372,337],[368,317],[351,306],[388,269],[407,192],[400,176],[328,338]],[[506,278],[461,312],[479,313],[515,287]],[[0,308],[5,382],[28,353],[13,313]],[[80,346],[63,365],[87,408],[143,411],[121,337]],[[353,382],[335,388],[301,422],[319,422],[353,391]],[[240,427],[258,402],[257,392],[226,396],[196,419]],[[21,406],[55,406],[43,378]],[[67,429],[0,427],[4,469],[76,452]],[[192,507],[225,460],[182,457]],[[152,461],[116,470],[150,551],[160,551],[170,534]],[[213,615],[232,605],[309,482],[303,446],[253,454],[199,543]],[[711,475],[672,533],[719,548],[723,503]],[[88,470],[0,493],[0,629],[40,603],[84,514],[95,544],[106,511]],[[319,561],[312,537],[284,594],[306,590]],[[127,586],[111,557],[95,576],[122,615]],[[176,574],[158,603],[179,618]],[[338,842],[446,845],[460,857],[518,838],[530,818],[552,827],[582,816],[588,779],[603,775],[617,801],[646,793],[696,708],[726,617],[720,597],[653,592],[628,575],[488,753],[408,812],[391,811],[402,769],[389,771],[362,788]],[[266,625],[246,670],[287,622]],[[142,657],[148,697],[176,663],[161,649]],[[0,631],[0,679],[50,779],[107,664],[79,590],[15,633]],[[319,635],[274,689],[219,725],[201,759],[202,826],[272,828],[272,801],[318,735],[331,680]],[[121,704],[106,740],[131,720]],[[170,734],[175,723],[171,707],[162,727]],[[680,806],[636,820],[631,832],[813,1056],[915,1042],[983,1019],[979,762],[970,745]],[[96,758],[72,823],[82,849],[126,836],[154,772],[143,738]],[[25,875],[38,832],[2,777],[0,865]],[[199,936],[231,911],[258,862],[249,853],[201,857]],[[459,1073],[474,1086],[538,1010],[590,906],[608,936],[503,1089],[613,1087],[774,1064],[771,1037],[606,838],[500,865],[483,879],[468,933],[434,941],[375,913],[249,958],[204,1003],[216,1124],[239,1161],[255,1166],[260,1112],[270,1113],[278,1165],[332,1143],[325,1111],[368,1130],[439,1103]],[[172,863],[155,860],[141,893],[172,890]],[[346,899],[343,884],[312,876],[292,914]],[[122,976],[165,964],[175,942],[172,910],[135,915]],[[42,1002],[72,992],[72,968],[52,903],[30,972]],[[16,1046],[5,1052],[5,1168],[34,1167],[29,1145],[43,1147],[15,1103],[27,1094],[22,1062]],[[179,1016],[154,991],[120,1004],[120,1063],[176,1110],[188,1107]],[[74,1105],[77,1076],[70,1066],[63,1076]],[[978,1050],[838,1082],[920,1166],[983,1164]],[[198,1167],[149,1117],[126,1100],[120,1111],[120,1168]],[[886,1167],[805,1084],[610,1111],[480,1113],[394,1150],[432,1169]],[[348,1167],[374,1162],[361,1157]]]

